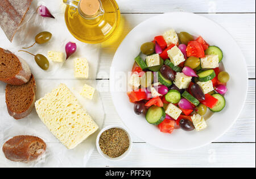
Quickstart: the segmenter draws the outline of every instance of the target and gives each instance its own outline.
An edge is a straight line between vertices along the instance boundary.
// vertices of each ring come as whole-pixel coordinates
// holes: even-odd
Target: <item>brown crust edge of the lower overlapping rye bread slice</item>
[[[32,75],[31,78],[34,78],[34,76]],[[6,94],[9,93],[9,91],[6,89]],[[34,84],[34,88],[33,88],[33,93],[34,93],[34,98],[33,98],[33,101],[31,102],[30,104],[30,107],[23,111],[22,113],[15,113],[13,110],[10,109],[10,107],[7,105],[6,103],[6,107],[7,107],[7,110],[8,110],[8,113],[10,116],[13,116],[14,119],[23,119],[25,118],[28,114],[31,113],[31,111],[34,109],[34,106],[35,106],[35,95],[36,95],[36,83]],[[6,95],[7,97],[7,95]],[[7,101],[7,99],[6,99]]]

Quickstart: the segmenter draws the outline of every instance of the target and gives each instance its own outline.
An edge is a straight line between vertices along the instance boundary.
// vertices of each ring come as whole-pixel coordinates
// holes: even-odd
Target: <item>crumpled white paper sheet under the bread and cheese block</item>
[[[39,5],[45,5],[51,11],[55,19],[43,18],[35,13]],[[36,99],[43,97],[60,83],[64,83],[75,94],[81,105],[93,117],[98,126],[102,127],[104,122],[104,109],[100,94],[96,91],[92,101],[81,97],[80,90],[84,84],[96,88],[96,74],[100,55],[100,45],[82,43],[69,33],[64,20],[65,5],[61,0],[34,0],[24,19],[22,26],[16,33],[13,43],[7,40],[5,34],[0,30],[0,47],[9,49],[26,60],[30,65],[37,84]],[[28,47],[34,43],[35,35],[42,31],[52,33],[52,39],[46,44],[35,44],[34,47],[27,49],[33,54],[40,53],[47,57],[48,51],[60,51],[65,53],[65,44],[73,41],[77,44],[77,52],[72,55],[64,64],[52,63],[50,68],[44,71],[35,63],[34,56],[18,52],[22,47]],[[73,74],[73,59],[75,57],[86,57],[89,63],[89,78],[92,80],[76,80]],[[59,143],[41,122],[36,111],[33,110],[27,118],[15,120],[9,116],[5,103],[5,86],[0,82],[0,167],[82,167],[86,166],[90,154],[95,147],[96,134],[90,136],[75,149],[68,150]],[[16,135],[35,135],[42,138],[47,143],[47,151],[38,161],[22,164],[9,161],[2,152],[2,145],[6,140]]]

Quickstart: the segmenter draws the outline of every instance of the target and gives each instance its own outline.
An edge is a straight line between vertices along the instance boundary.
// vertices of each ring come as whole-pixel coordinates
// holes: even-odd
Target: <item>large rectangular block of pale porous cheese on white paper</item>
[[[64,84],[36,101],[35,108],[42,122],[68,149],[75,148],[98,129]]]

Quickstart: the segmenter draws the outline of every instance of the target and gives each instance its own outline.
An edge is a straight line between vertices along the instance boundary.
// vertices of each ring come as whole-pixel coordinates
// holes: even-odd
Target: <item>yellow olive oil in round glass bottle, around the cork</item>
[[[88,18],[79,11],[80,1],[72,1],[77,8],[67,6],[65,10],[65,22],[71,34],[80,41],[92,44],[109,39],[117,30],[121,19],[117,3],[114,0],[101,0],[102,14]]]

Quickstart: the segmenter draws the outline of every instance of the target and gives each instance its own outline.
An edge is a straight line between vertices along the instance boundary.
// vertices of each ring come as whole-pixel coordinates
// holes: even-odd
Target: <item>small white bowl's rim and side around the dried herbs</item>
[[[106,155],[105,153],[103,153],[101,151],[100,145],[98,144],[98,141],[100,140],[100,136],[101,136],[102,132],[109,130],[110,128],[121,128],[123,131],[126,132],[128,138],[129,138],[129,141],[130,141],[130,145],[129,145],[129,148],[127,149],[127,151],[125,153],[123,153],[123,155],[116,157],[116,158],[111,158],[108,155]],[[131,152],[132,145],[133,145],[133,141],[131,140],[131,136],[130,136],[129,132],[127,131],[127,129],[125,127],[116,126],[116,125],[107,126],[107,127],[102,128],[102,130],[98,133],[97,139],[96,139],[96,147],[97,147],[98,153],[100,153],[100,155],[102,157],[104,157],[105,159],[108,159],[111,161],[119,161],[119,160],[125,159],[125,157],[127,155],[129,155],[129,153]]]

